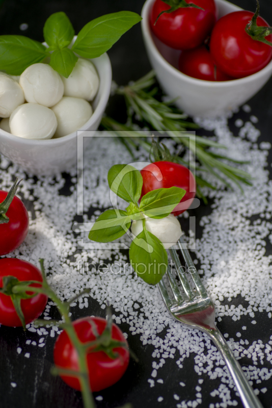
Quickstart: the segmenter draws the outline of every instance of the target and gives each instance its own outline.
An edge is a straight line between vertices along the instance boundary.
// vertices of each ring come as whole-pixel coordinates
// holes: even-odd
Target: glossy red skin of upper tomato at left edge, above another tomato
[[[6,191],[0,191],[0,203],[7,195]],[[6,224],[0,224],[0,256],[18,248],[29,231],[28,211],[18,197],[13,198],[6,215],[10,220]]]

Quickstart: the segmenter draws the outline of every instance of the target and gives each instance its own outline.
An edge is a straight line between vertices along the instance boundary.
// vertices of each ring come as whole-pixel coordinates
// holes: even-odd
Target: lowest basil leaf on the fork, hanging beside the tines
[[[147,230],[143,230],[131,242],[129,260],[134,271],[150,285],[160,281],[168,265],[165,247]]]

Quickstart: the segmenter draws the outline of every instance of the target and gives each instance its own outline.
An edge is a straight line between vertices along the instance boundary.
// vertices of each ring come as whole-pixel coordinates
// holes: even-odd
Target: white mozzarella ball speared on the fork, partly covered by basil
[[[146,229],[164,244],[165,249],[174,245],[182,235],[180,223],[173,214],[160,219],[146,217]],[[143,220],[133,221],[132,234],[137,236],[142,231]]]

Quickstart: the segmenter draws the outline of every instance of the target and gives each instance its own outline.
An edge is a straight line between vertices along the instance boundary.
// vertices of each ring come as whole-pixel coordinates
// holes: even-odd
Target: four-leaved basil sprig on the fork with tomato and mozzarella
[[[141,197],[143,178],[139,170],[126,164],[111,167],[107,175],[110,189],[129,203],[126,210],[106,210],[95,221],[89,238],[96,242],[111,242],[128,231],[131,221],[142,220],[143,231],[134,237],[129,259],[135,272],[148,284],[157,284],[165,274],[168,260],[162,242],[146,228],[146,217],[167,217],[186,191],[179,187],[160,188]]]

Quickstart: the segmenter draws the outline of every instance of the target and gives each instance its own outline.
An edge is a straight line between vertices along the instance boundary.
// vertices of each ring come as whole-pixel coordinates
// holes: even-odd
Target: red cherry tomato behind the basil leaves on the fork
[[[174,208],[172,214],[179,215],[192,204],[196,195],[196,180],[187,167],[172,162],[155,162],[141,170],[143,177],[142,195],[158,188],[180,187],[186,194]]]

